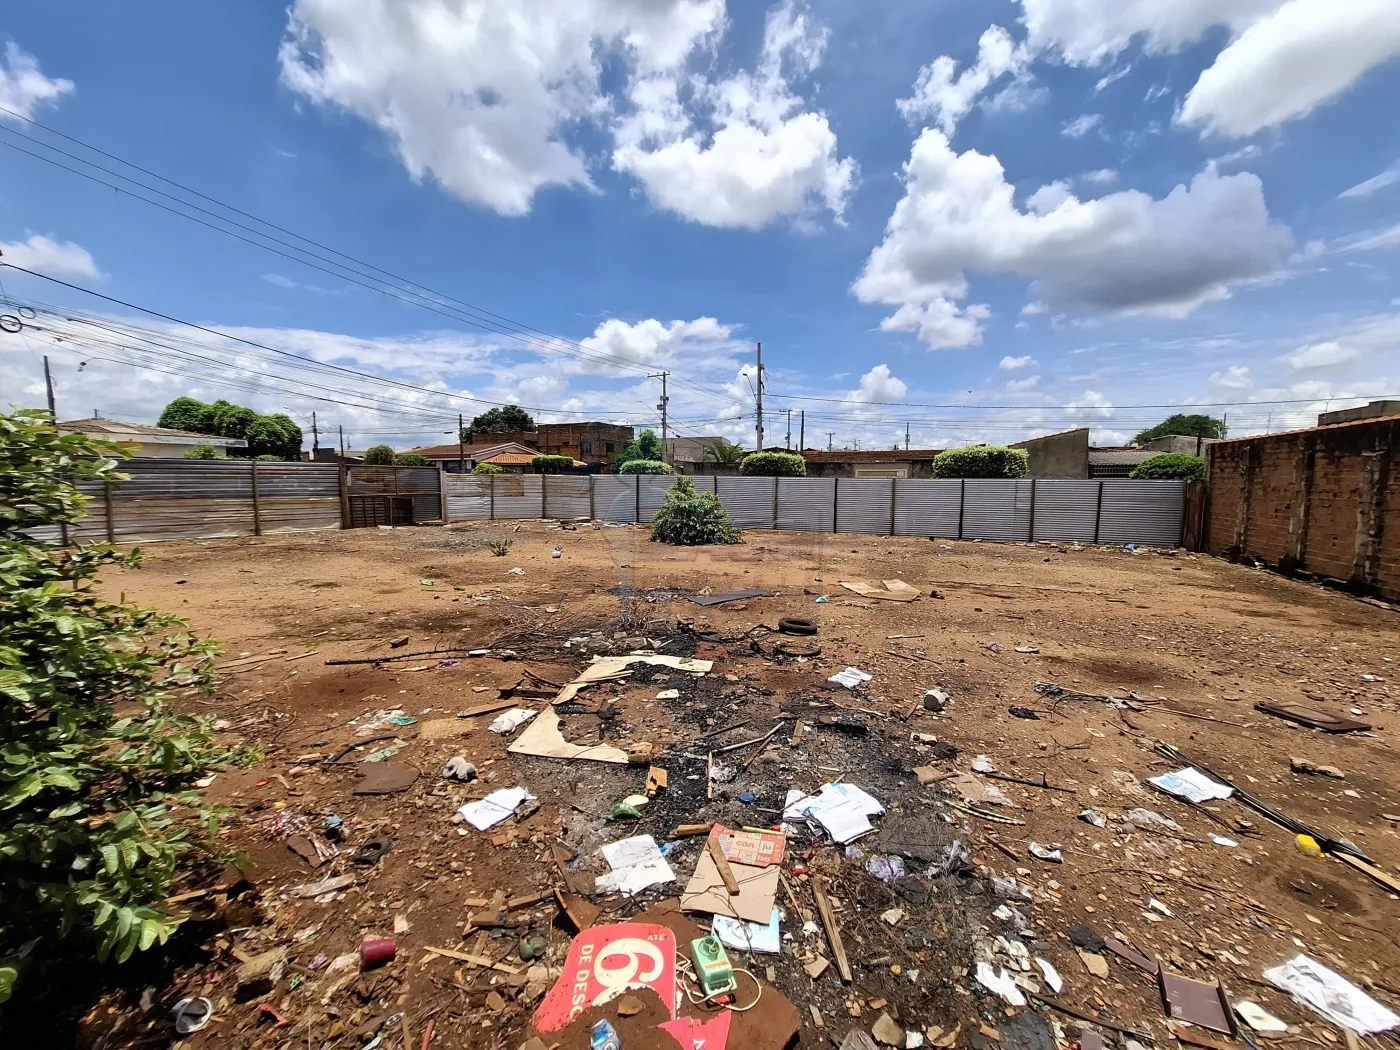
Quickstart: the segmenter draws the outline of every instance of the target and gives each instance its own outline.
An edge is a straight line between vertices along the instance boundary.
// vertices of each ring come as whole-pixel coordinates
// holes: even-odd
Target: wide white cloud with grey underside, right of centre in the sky
[[[958,154],[924,129],[853,290],[896,308],[882,328],[917,330],[931,349],[972,346],[988,312],[960,305],[969,272],[1028,277],[1051,307],[1186,316],[1273,273],[1291,242],[1254,175],[1207,169],[1159,200],[1124,190],[1085,202],[1053,183],[1022,207],[995,157]]]

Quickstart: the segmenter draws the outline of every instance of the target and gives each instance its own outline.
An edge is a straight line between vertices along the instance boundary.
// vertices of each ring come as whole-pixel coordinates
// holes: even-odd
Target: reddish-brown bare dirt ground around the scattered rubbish
[[[486,549],[497,538],[512,542],[505,557]],[[1393,662],[1400,615],[1184,552],[818,533],[746,532],[745,539],[735,547],[675,549],[633,528],[491,522],[147,547],[141,568],[106,581],[112,592],[188,616],[221,640],[221,664],[281,650],[263,662],[235,664],[216,699],[190,704],[224,720],[230,742],[265,752],[256,766],[220,774],[209,791],[232,809],[221,841],[245,857],[253,890],[224,904],[221,924],[200,927],[207,939],[164,986],[147,991],[144,1005],[139,990],[95,1004],[84,1042],[164,1044],[174,1039],[167,1018],[174,1001],[209,995],[216,1021],[186,1037],[188,1047],[358,1047],[377,1021],[402,1011],[414,1047],[431,1022],[434,1047],[515,1050],[542,991],[539,970],[531,980],[529,967],[557,967],[571,930],[553,900],[521,904],[511,928],[472,928],[469,916],[496,890],[528,900],[563,885],[550,848],[556,840],[575,855],[568,867],[578,879],[608,869],[598,855],[603,843],[630,834],[664,843],[680,823],[770,826],[788,788],[815,791],[836,780],[858,784],[885,805],[875,836],[857,843],[861,855],[846,855],[799,826],[784,861],[792,895],[784,890],[777,902],[783,953],[731,952],[764,979],[769,1005],[780,1001],[776,988],[797,1007],[804,1046],[839,1043],[853,1026],[869,1030],[881,1014],[927,1033],[932,1044],[990,1046],[980,1026],[1005,1023],[1007,1009],[970,973],[976,945],[995,934],[1018,937],[1015,920],[993,914],[1002,902],[990,889],[991,875],[1029,889],[1033,900],[1011,902],[1028,918],[1019,939],[1063,976],[1060,1001],[1159,1044],[1169,1036],[1155,979],[1112,956],[1106,976],[1095,976],[1092,960],[1082,960],[1067,938],[1070,927],[1117,935],[1170,969],[1219,979],[1233,998],[1250,998],[1291,1026],[1257,1040],[1343,1042],[1340,1029],[1263,983],[1263,969],[1299,951],[1392,1008],[1400,1002],[1394,895],[1341,862],[1302,855],[1291,833],[1238,799],[1191,808],[1142,783],[1175,767],[1155,743],[1175,745],[1400,874],[1400,763],[1392,743],[1400,731],[1400,665]],[[563,547],[559,559],[550,556],[556,546]],[[512,567],[524,574],[510,574]],[[867,601],[839,585],[895,577],[923,596]],[[704,588],[774,595],[707,609],[690,601]],[[830,601],[818,602],[820,595]],[[820,654],[784,657],[774,648],[781,636],[752,631],[780,616],[813,620],[815,638],[790,641],[815,643]],[[402,636],[407,644],[391,650],[388,643]],[[640,822],[608,818],[615,802],[641,791],[645,766],[511,756],[510,738],[486,728],[494,714],[454,717],[519,683],[526,671],[563,683],[595,654],[652,644],[713,659],[714,669],[694,679],[648,668],[581,696],[591,710],[616,697],[616,717],[564,718],[571,739],[654,745],[671,787]],[[323,662],[449,648],[494,652]],[[503,648],[517,657],[498,658]],[[827,685],[848,665],[874,679],[855,692]],[[1134,693],[1142,703],[1117,710],[1093,700],[1054,701],[1037,696],[1037,682]],[[942,714],[921,704],[935,686],[951,697]],[[657,700],[665,689],[680,696]],[[781,707],[813,700],[854,711],[865,735],[820,727],[818,715],[829,708],[794,714]],[[1266,700],[1352,713],[1375,728],[1329,736],[1256,711]],[[1012,717],[1011,707],[1039,717]],[[417,720],[388,727],[406,742],[393,760],[421,776],[400,794],[353,795],[361,767],[322,759],[364,739],[353,720],[392,708]],[[780,717],[788,721],[767,745],[717,756],[736,774],[707,799],[707,750],[759,736]],[[795,718],[806,729],[794,745]],[[738,722],[745,725],[700,739]],[[479,767],[480,780],[441,778],[456,755]],[[1004,791],[1012,805],[993,812],[1015,823],[970,816],[945,801],[962,802],[956,785],[967,781],[944,774],[967,773],[979,755],[1002,774],[1044,777],[1065,791],[980,778]],[[1294,773],[1291,757],[1345,777]],[[942,778],[920,785],[914,767],[935,767],[931,776]],[[529,788],[539,808],[486,833],[454,822],[462,802],[512,785]],[[741,792],[753,799],[739,801]],[[1078,819],[1086,806],[1106,826]],[[1179,830],[1124,823],[1137,808],[1170,818]],[[388,837],[392,848],[374,865],[356,865],[342,853],[312,868],[276,836],[276,822],[287,815],[305,818],[318,834],[335,815],[344,822],[344,846]],[[1218,844],[1212,834],[1238,846]],[[910,876],[886,883],[865,865],[892,851],[892,839],[917,844],[906,857]],[[955,839],[967,846],[970,862],[925,875]],[[633,900],[591,897],[605,913],[599,921],[676,897],[703,841],[682,839],[668,857],[676,883]],[[1030,841],[1061,848],[1064,862],[1033,858]],[[920,851],[927,855],[918,858]],[[815,980],[802,969],[804,960],[830,956],[819,920],[804,931],[804,920],[816,917],[802,867],[832,881],[853,984],[843,984],[834,967]],[[342,874],[354,885],[325,903],[288,895]],[[895,924],[881,918],[890,909],[903,911]],[[526,962],[519,939],[531,934],[543,935],[547,948]],[[363,976],[354,969],[326,974],[325,960],[356,952],[367,935],[396,937],[396,959]],[[434,958],[423,951],[428,946],[486,956],[518,974]],[[239,988],[238,960],[277,948],[287,949],[279,980]],[[1040,980],[1035,967],[1030,976]],[[1065,1039],[1081,1028],[1065,1015],[1046,1016]],[[288,1023],[276,1028],[279,1018]],[[382,1044],[398,1042],[395,1029]],[[1009,1029],[1005,1042],[1015,1042]],[[626,1035],[624,1043],[627,1050],[675,1046]]]

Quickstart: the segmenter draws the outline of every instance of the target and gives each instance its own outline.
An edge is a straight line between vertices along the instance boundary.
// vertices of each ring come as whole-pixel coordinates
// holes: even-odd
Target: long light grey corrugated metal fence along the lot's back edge
[[[448,518],[650,522],[675,477],[444,475]],[[746,529],[1065,543],[1180,543],[1184,482],[694,477]],[[494,496],[491,490],[494,486]],[[557,491],[557,496],[556,496]]]

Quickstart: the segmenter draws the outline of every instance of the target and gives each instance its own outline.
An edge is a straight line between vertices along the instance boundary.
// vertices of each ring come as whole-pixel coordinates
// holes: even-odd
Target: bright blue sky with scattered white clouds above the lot
[[[655,426],[669,370],[678,433],[752,445],[759,340],[769,444],[1400,393],[1393,1],[11,0],[0,38],[6,260],[216,330],[0,270],[56,311],[0,335],[4,400],[48,353],[66,419],[407,448],[489,402]]]

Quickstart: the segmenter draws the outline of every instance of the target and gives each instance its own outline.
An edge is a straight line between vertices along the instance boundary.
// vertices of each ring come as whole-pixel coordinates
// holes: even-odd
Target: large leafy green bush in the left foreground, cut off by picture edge
[[[125,962],[165,944],[169,886],[214,830],[193,781],[237,757],[168,710],[175,690],[211,692],[214,643],[97,591],[139,552],[28,533],[78,521],[73,483],[122,479],[111,455],[43,413],[0,414],[0,1001],[21,945],[32,960],[74,932]]]

